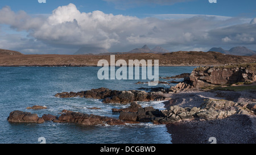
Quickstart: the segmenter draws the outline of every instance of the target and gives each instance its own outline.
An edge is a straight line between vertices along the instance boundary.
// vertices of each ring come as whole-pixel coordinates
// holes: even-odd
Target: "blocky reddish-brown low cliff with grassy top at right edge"
[[[225,85],[230,83],[256,81],[256,63],[218,66],[218,67],[199,67],[192,71],[189,76],[192,85],[196,88],[214,85]]]

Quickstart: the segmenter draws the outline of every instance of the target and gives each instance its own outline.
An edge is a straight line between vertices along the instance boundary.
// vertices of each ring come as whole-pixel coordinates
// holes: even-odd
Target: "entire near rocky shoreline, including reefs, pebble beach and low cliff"
[[[227,78],[228,75],[231,75],[232,78]],[[7,120],[15,123],[52,121],[54,123],[81,125],[166,124],[168,132],[172,135],[172,143],[209,143],[207,141],[209,136],[216,137],[219,143],[256,143],[255,90],[201,89],[201,86],[205,86],[205,83],[209,82],[210,86],[245,81],[253,83],[256,77],[254,68],[248,69],[243,68],[243,66],[236,66],[236,69],[196,68],[189,77],[187,74],[181,76],[185,76],[184,81],[176,86],[170,88],[154,87],[147,89],[148,92],[142,90],[118,91],[101,87],[77,93],[55,94],[55,97],[59,98],[94,98],[101,99],[104,104],[130,104],[126,108],[112,109],[112,112],[119,113],[118,119],[63,110],[60,116],[44,114],[42,118],[30,112],[13,111]],[[208,79],[203,81],[203,78]],[[202,81],[205,83],[199,84]],[[207,84],[207,86],[209,85]],[[153,107],[142,107],[139,104],[139,102],[152,100],[163,101],[166,109],[158,110]],[[44,108],[46,107],[27,107],[27,109],[35,110]],[[93,108],[97,109],[97,107]]]

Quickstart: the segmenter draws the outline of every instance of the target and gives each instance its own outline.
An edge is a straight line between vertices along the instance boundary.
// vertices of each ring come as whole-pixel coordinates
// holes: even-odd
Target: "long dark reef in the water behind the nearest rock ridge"
[[[110,90],[104,87],[99,89],[92,89],[87,91],[80,91],[78,93],[74,92],[64,92],[57,93],[55,97],[60,98],[72,98],[72,97],[82,97],[82,98],[94,98],[94,99],[103,99],[104,103],[121,103],[127,104],[134,101],[151,101],[151,100],[167,100],[163,94],[159,93],[147,93],[146,91],[141,90],[129,90],[129,91],[118,91]]]

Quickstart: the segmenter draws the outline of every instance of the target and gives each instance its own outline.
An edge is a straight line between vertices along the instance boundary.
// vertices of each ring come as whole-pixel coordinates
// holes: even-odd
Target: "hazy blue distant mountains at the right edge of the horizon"
[[[256,51],[251,51],[250,49],[246,47],[233,47],[229,49],[229,51],[222,49],[222,48],[211,48],[208,52],[220,52],[225,55],[235,55],[235,56],[252,56],[256,55]]]

